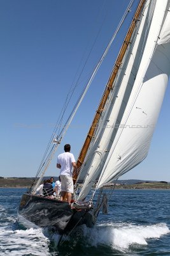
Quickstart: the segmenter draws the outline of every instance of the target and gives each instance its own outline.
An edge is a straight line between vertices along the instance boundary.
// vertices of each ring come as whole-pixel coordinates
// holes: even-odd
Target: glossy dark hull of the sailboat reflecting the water
[[[67,202],[43,196],[24,194],[18,214],[38,227],[53,228],[59,234],[67,234],[74,227],[92,227],[94,220],[85,209],[71,209]]]

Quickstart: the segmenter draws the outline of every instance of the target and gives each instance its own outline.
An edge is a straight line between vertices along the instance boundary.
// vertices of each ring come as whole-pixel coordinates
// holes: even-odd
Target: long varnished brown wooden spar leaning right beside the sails
[[[132,22],[131,22],[131,26],[129,27],[129,30],[127,31],[127,35],[125,36],[125,40],[124,40],[124,43],[122,44],[122,47],[120,49],[120,52],[118,54],[118,57],[117,57],[117,60],[115,62],[115,65],[113,67],[113,70],[111,72],[111,76],[108,80],[108,83],[106,85],[106,89],[104,90],[104,93],[103,93],[103,97],[101,98],[101,102],[99,104],[99,107],[96,111],[96,115],[94,116],[94,120],[92,121],[92,125],[89,129],[89,132],[87,134],[87,138],[85,139],[85,142],[83,144],[83,147],[81,149],[81,152],[80,152],[80,155],[78,157],[78,161],[77,161],[77,168],[78,168],[78,172],[73,172],[73,180],[74,180],[74,183],[76,182],[77,180],[77,177],[78,177],[78,173],[80,172],[80,168],[81,168],[81,165],[83,164],[83,161],[85,160],[85,156],[87,154],[87,151],[89,149],[89,145],[90,145],[90,142],[94,136],[94,132],[96,130],[96,125],[97,125],[97,122],[99,121],[99,118],[101,116],[101,113],[102,111],[104,110],[104,106],[106,104],[106,100],[108,99],[109,95],[110,95],[110,91],[113,89],[114,85],[113,85],[113,82],[115,81],[115,78],[117,76],[117,73],[118,73],[118,69],[120,68],[120,65],[122,63],[122,60],[125,56],[125,52],[127,51],[127,47],[128,45],[131,43],[131,36],[132,36],[132,33],[136,27],[136,21],[138,20],[139,18],[139,15],[143,9],[143,6],[145,4],[146,0],[141,0],[138,4],[138,8],[136,9],[136,13],[132,19]]]

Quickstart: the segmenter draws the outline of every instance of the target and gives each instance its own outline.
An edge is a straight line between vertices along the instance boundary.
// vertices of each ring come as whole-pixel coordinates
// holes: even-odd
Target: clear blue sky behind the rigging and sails
[[[73,103],[101,57],[127,7],[127,0],[1,0],[0,3],[0,176],[33,177],[71,84]],[[135,1],[136,5],[138,1]],[[60,145],[78,156],[133,10],[113,43],[87,97]],[[122,179],[169,179],[169,86],[148,157]],[[59,174],[57,154],[46,175]]]

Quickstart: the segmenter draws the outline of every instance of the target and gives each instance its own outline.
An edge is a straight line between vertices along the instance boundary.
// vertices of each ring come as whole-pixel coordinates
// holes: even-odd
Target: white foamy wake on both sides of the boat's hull
[[[76,236],[63,236],[60,246],[70,248],[70,244],[82,246],[82,248],[109,246],[113,250],[127,252],[133,246],[146,245],[148,239],[159,239],[160,236],[170,232],[164,223],[155,225],[134,225],[132,223],[105,223],[94,228],[83,226],[76,230]],[[0,228],[1,248],[4,255],[25,255],[29,252],[33,255],[51,255],[50,248],[55,251],[60,236],[42,228],[29,228],[27,230],[8,230]],[[43,254],[42,252],[45,252]],[[73,248],[72,248],[73,249]],[[71,250],[71,248],[70,248]]]

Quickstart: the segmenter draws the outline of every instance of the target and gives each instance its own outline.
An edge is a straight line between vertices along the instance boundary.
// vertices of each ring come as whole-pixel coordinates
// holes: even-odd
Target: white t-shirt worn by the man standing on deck
[[[76,162],[74,156],[70,152],[64,152],[60,154],[57,158],[57,164],[60,164],[60,175],[67,175],[72,177],[72,167]]]

